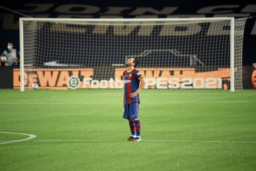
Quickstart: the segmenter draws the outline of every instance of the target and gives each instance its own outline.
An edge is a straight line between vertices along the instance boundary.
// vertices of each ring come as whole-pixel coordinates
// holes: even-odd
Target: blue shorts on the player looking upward
[[[139,117],[139,104],[140,103],[124,103],[123,118],[124,119],[136,119]]]

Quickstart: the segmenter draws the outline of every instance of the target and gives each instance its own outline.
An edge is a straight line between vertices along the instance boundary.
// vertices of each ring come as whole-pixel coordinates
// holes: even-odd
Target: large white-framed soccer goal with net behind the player
[[[246,20],[20,18],[14,88],[122,88],[136,57],[145,88],[242,89]]]

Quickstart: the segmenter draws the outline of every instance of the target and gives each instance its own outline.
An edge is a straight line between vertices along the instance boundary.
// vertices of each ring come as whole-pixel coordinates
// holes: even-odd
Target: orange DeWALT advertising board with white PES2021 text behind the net
[[[145,89],[229,89],[230,86],[229,68],[206,72],[196,72],[195,68],[136,69],[147,81]],[[37,83],[39,89],[120,89],[123,88],[125,70],[115,68],[114,78],[97,80],[93,79],[93,68],[25,69],[24,87],[31,89],[32,84]],[[14,89],[20,88],[19,77],[20,69],[13,69]]]

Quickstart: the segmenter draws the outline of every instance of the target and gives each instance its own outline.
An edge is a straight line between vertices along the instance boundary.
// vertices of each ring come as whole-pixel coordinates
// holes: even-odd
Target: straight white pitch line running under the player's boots
[[[0,140],[0,141],[7,141],[7,140]],[[18,141],[22,141],[22,140],[18,140]],[[30,140],[30,141],[123,141],[123,140]],[[142,140],[142,141],[256,143],[254,141],[200,141],[200,140]]]

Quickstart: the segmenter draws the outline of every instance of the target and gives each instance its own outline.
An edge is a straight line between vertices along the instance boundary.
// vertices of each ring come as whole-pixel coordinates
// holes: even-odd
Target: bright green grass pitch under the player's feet
[[[29,136],[0,133],[0,170],[256,168],[255,90],[142,90],[141,142],[123,141],[130,129],[122,89],[0,97],[0,131],[36,136],[3,143]]]

